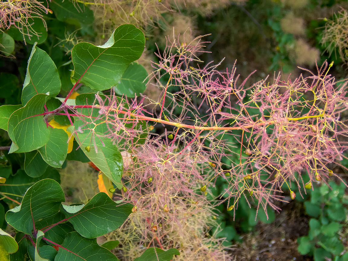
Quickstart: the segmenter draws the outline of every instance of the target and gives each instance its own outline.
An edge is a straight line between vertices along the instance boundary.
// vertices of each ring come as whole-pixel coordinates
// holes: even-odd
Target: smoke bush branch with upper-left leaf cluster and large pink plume
[[[221,260],[221,242],[206,236],[214,225],[211,205],[227,201],[227,211],[235,213],[245,197],[267,216],[268,206],[279,211],[275,201],[284,201],[284,185],[293,199],[291,182],[310,189],[315,181],[337,176],[328,166],[338,163],[347,149],[347,120],[341,113],[348,101],[346,83],[338,85],[329,74],[332,64],[317,67],[316,73],[303,69],[309,76],[294,81],[275,75],[272,82],[266,78],[248,85],[235,66],[221,72],[220,63],[200,60],[205,52],[202,38],[180,42],[174,37],[163,53],[157,53],[159,61],[153,62],[149,78],[160,89],[158,100],[117,96],[122,90],[134,94],[134,89],[124,88],[124,79],[134,81],[138,93],[142,86],[142,67],[132,62],[140,57],[145,38],[135,26],[118,27],[104,46],[79,43],[72,49],[76,84],[54,110],[45,104],[59,93],[59,77],[57,72],[54,77],[45,74],[51,81],[36,82],[35,55],[47,54],[34,45],[22,94],[25,106],[0,110],[6,115],[1,127],[13,141],[10,152],[38,151],[35,155],[47,164],[60,167],[73,137],[120,189],[114,199],[134,206],[120,234],[114,235],[131,234],[135,239],[126,238],[122,244],[128,240],[149,242],[148,247],[177,247],[185,253],[181,258],[192,258],[197,254],[192,249],[198,247]],[[53,65],[47,70],[56,71]],[[42,85],[42,79],[48,85]],[[98,92],[68,101],[81,85]],[[110,87],[110,95],[102,92]],[[56,116],[65,116],[71,126],[66,131],[53,128]],[[163,133],[152,133],[155,127],[164,128]],[[56,154],[60,157],[53,160]],[[208,201],[217,177],[228,186],[221,197]],[[189,235],[200,240],[185,241]],[[140,244],[136,247],[142,250]],[[128,249],[122,255],[135,257],[129,253],[134,248]]]

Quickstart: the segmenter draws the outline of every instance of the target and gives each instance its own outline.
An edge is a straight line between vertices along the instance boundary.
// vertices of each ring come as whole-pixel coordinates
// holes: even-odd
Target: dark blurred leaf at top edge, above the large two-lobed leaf
[[[82,3],[69,0],[52,0],[49,7],[57,17],[58,21],[81,27],[81,24],[93,23],[93,11],[85,7]]]

